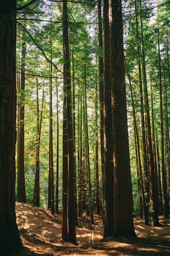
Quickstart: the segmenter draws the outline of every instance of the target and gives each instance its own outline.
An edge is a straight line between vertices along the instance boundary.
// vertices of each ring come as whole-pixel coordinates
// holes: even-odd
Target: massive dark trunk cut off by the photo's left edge
[[[16,1],[1,2],[0,16],[0,249],[11,255],[22,247],[15,217]]]

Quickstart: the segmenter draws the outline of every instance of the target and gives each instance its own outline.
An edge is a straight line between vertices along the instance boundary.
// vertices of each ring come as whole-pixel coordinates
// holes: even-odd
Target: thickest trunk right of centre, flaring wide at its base
[[[124,46],[121,0],[109,0],[111,75],[113,93],[113,236],[136,237],[133,225],[132,182],[128,141],[128,121],[124,70]],[[122,156],[123,159],[122,159]],[[121,203],[120,203],[121,202]]]

